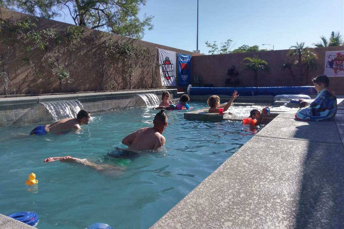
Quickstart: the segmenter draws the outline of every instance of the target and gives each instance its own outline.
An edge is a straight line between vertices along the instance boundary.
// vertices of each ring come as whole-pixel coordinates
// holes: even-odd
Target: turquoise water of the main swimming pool
[[[191,103],[195,109],[204,103]],[[128,108],[92,114],[78,133],[28,136],[36,125],[0,131],[0,213],[34,211],[40,229],[83,229],[95,222],[116,229],[149,228],[195,186],[245,144],[257,129],[241,122],[186,120],[183,111],[167,111],[166,144],[133,161],[102,161],[121,140],[138,128],[152,126],[157,111]],[[125,164],[124,172],[98,172],[88,167],[43,163],[53,156]],[[25,180],[36,174],[37,190]]]

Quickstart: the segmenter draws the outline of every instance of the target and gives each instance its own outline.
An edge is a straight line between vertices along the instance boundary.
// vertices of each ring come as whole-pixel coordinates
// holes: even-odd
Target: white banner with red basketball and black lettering
[[[159,50],[160,76],[163,86],[175,86],[175,52]]]

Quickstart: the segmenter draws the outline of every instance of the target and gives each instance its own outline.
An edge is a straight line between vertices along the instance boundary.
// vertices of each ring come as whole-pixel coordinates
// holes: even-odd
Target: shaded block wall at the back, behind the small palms
[[[319,59],[317,63],[319,68],[312,71],[309,75],[307,82],[303,82],[303,85],[313,85],[311,79],[317,75],[324,74],[324,63],[326,51],[343,51],[344,46],[314,48],[318,54]],[[225,84],[227,75],[227,69],[232,65],[239,71],[237,76],[240,79],[240,83],[237,87],[253,87],[253,72],[243,71],[241,67],[242,62],[246,57],[253,57],[258,55],[258,58],[264,59],[268,62],[270,68],[269,73],[258,72],[258,86],[259,87],[283,87],[294,86],[289,70],[281,71],[281,66],[286,58],[289,50],[273,50],[273,51],[260,51],[252,53],[234,53],[234,54],[219,54],[219,55],[205,55],[205,56],[193,56],[192,57],[192,72],[193,75],[199,76],[200,84],[211,83],[214,87],[226,87]],[[293,68],[293,73],[296,77],[299,77],[298,68]],[[229,85],[234,87],[234,85]],[[330,87],[337,93],[344,94],[344,77],[331,77]]]

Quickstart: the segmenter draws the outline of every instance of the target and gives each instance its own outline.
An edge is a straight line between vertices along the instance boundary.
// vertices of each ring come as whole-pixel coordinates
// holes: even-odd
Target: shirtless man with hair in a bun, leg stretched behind
[[[164,113],[164,110],[161,110],[154,117],[153,127],[138,129],[134,133],[131,133],[127,137],[123,138],[122,144],[128,146],[128,149],[125,149],[125,151],[139,152],[142,150],[158,150],[160,147],[163,147],[165,145],[165,137],[162,136],[162,132],[165,130],[166,126],[167,115]],[[97,170],[112,167],[111,165],[99,165],[89,162],[87,159],[73,158],[71,156],[46,158],[43,162],[52,161],[73,162],[87,165]]]

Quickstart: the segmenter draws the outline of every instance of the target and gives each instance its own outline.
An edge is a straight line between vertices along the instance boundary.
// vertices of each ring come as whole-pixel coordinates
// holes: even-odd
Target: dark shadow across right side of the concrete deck
[[[304,121],[299,121],[304,122]],[[308,122],[294,137],[308,141],[294,228],[344,228],[344,149],[334,122]],[[329,128],[319,126],[328,125]],[[314,141],[315,131],[318,142]],[[309,138],[307,138],[310,136]],[[331,142],[332,139],[332,142]]]

